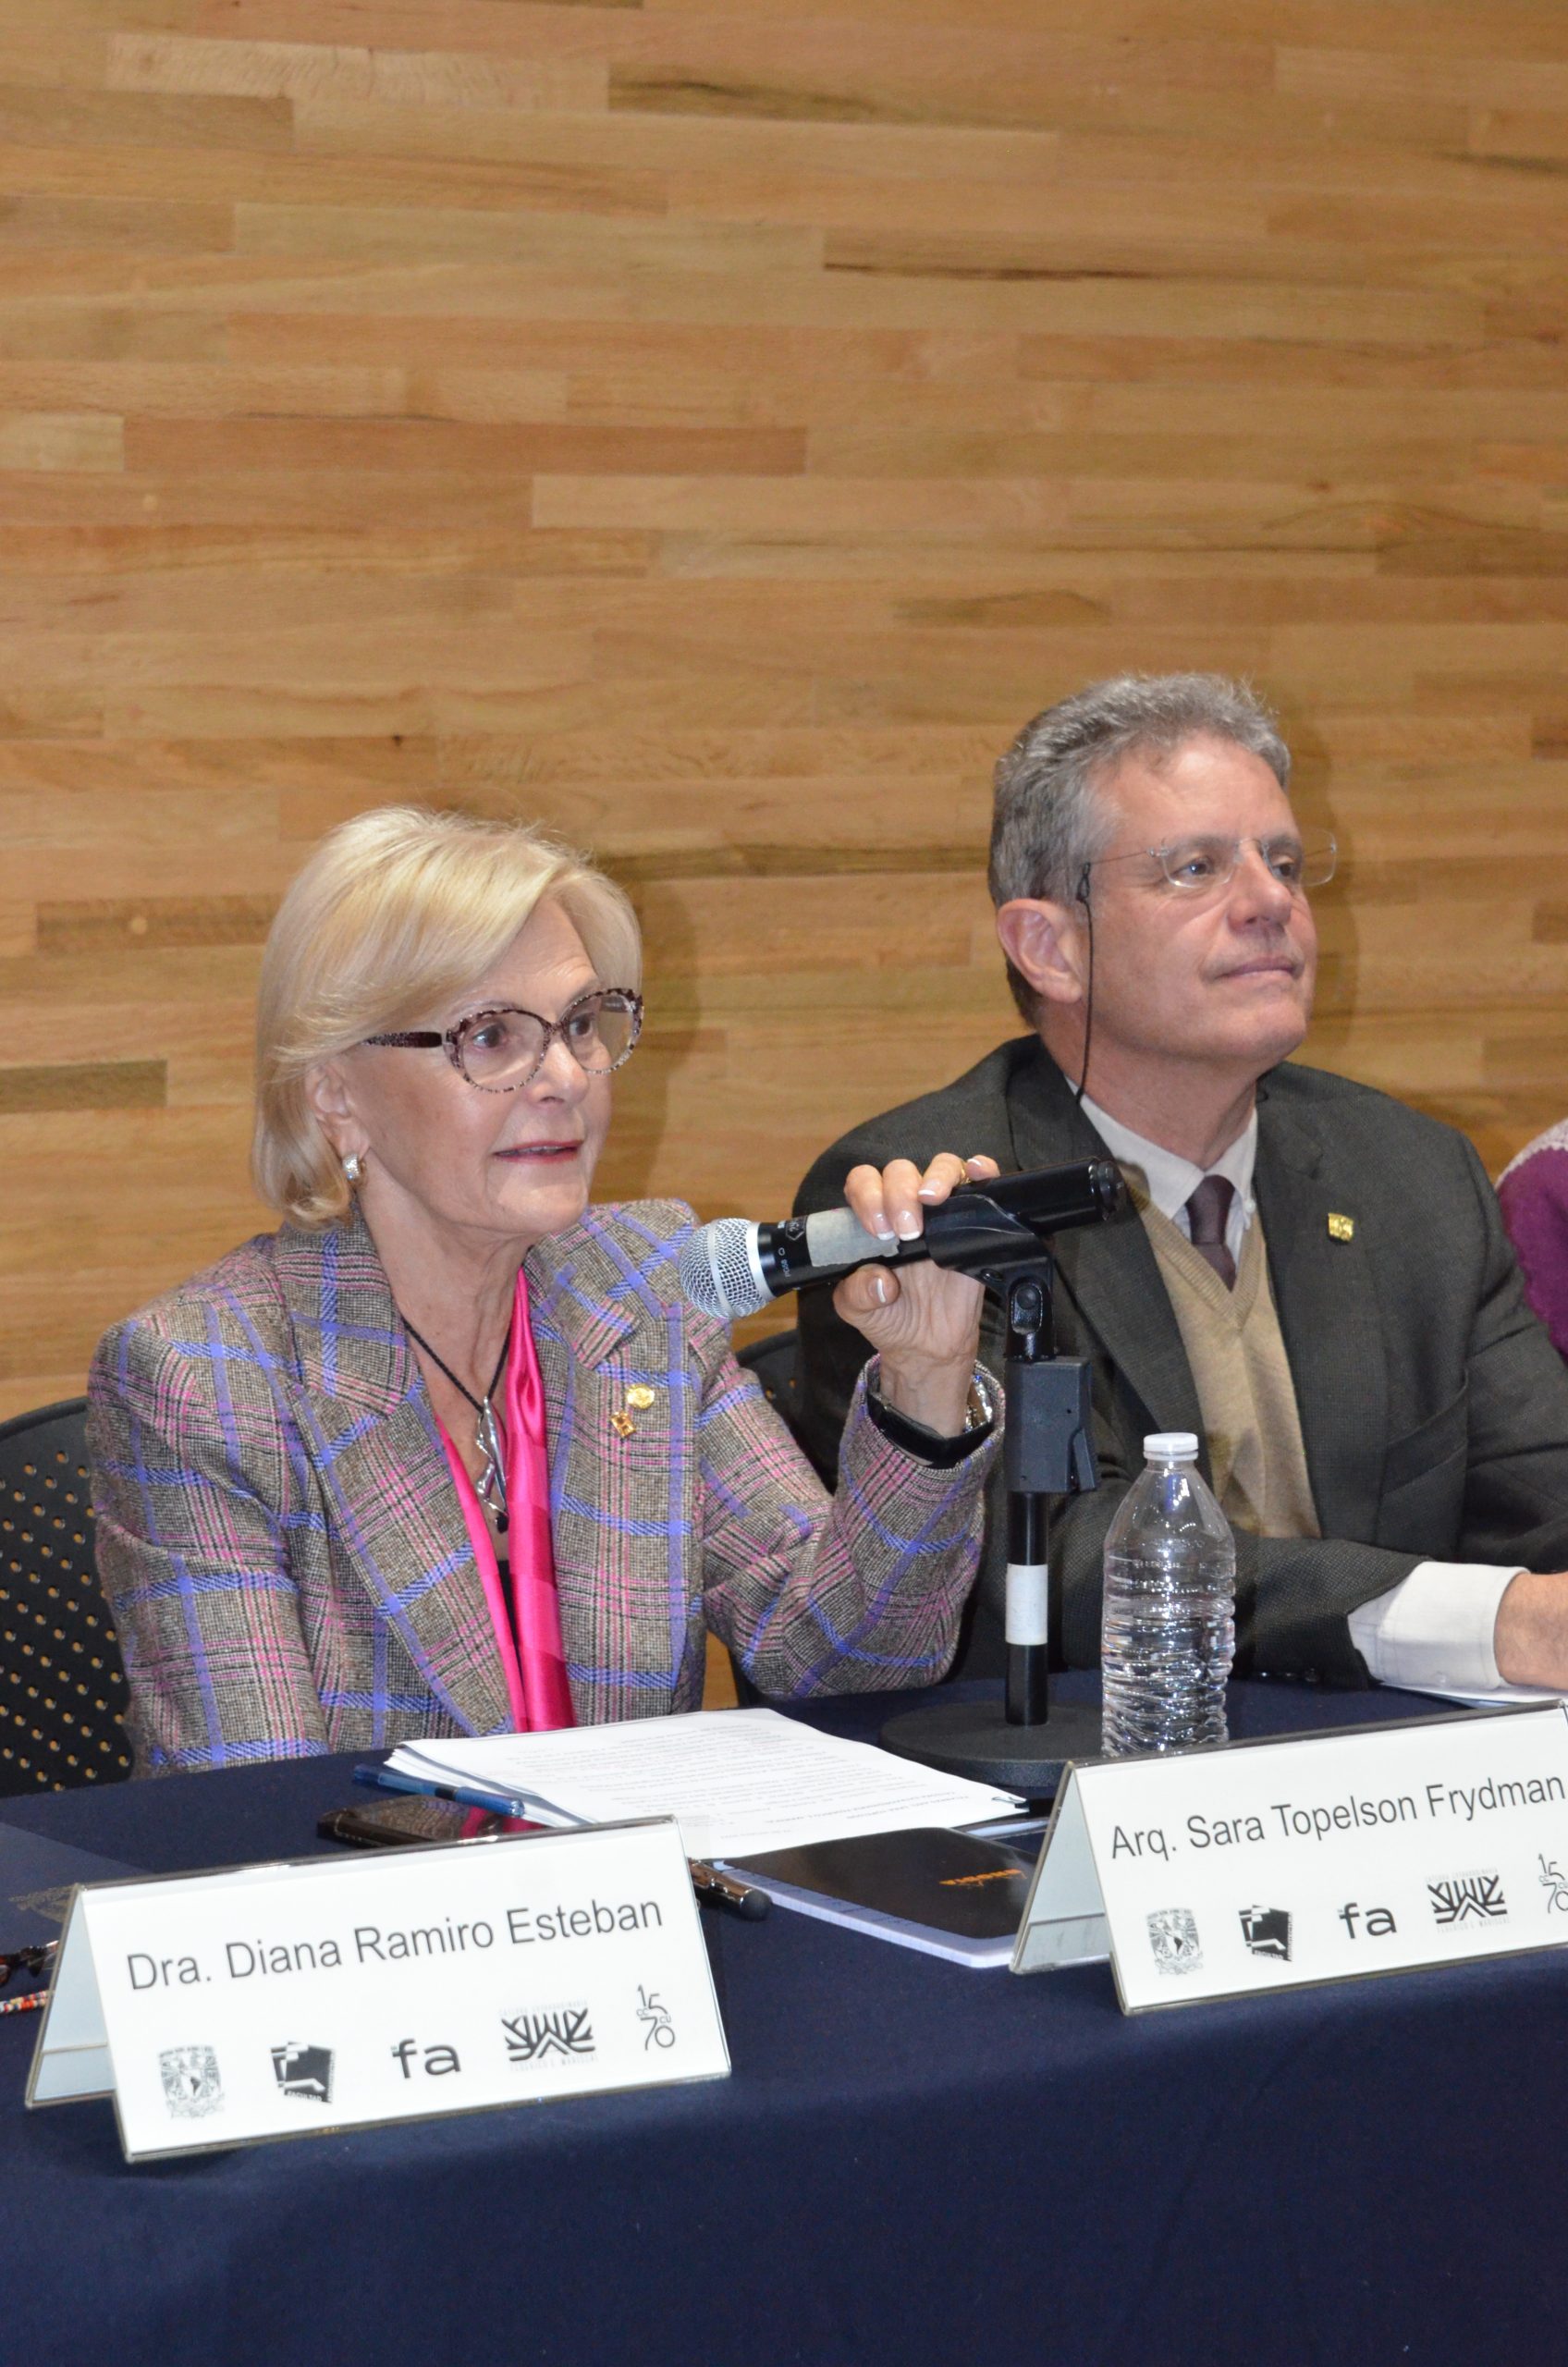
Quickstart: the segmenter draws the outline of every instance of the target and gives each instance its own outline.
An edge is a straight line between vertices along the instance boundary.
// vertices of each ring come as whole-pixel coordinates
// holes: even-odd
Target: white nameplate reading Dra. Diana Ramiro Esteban
[[[28,2104],[147,2161],[727,2071],[658,1818],[78,1889]]]

